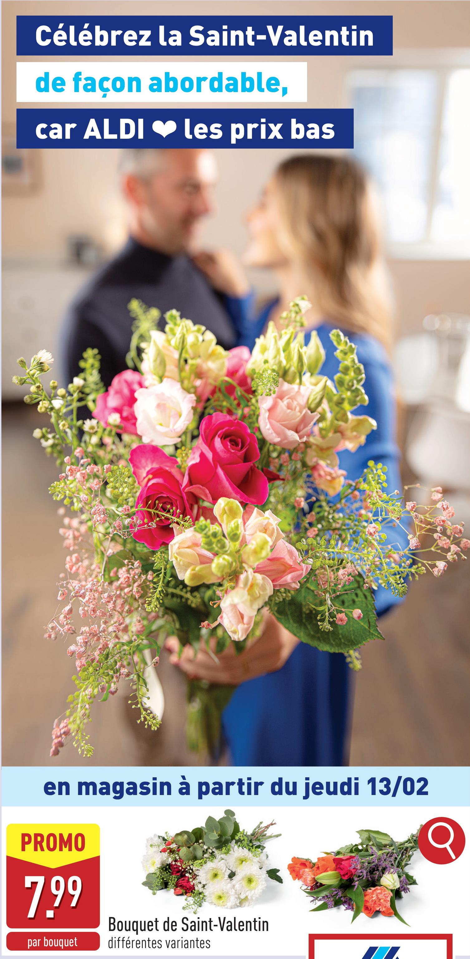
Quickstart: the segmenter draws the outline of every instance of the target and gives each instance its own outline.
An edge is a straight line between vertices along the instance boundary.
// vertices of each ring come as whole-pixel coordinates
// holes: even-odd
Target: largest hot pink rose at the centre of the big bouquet
[[[259,458],[256,437],[247,424],[212,413],[200,421],[200,438],[188,459],[183,488],[208,503],[222,496],[240,503],[265,503],[268,479],[255,466]]]

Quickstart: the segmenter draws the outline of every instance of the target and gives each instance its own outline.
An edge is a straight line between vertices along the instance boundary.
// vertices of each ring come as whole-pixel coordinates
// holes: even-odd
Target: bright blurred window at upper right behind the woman
[[[470,69],[361,69],[348,86],[391,254],[470,257]]]

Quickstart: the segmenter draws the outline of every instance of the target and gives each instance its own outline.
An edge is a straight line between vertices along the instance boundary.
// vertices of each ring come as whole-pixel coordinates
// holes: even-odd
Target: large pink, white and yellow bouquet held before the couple
[[[382,638],[378,584],[404,596],[412,576],[440,576],[464,558],[470,541],[440,488],[431,504],[405,504],[388,493],[381,463],[354,481],[339,468],[338,453],[356,451],[376,423],[352,412],[367,403],[364,367],[339,330],[335,382],[321,375],[315,331],[304,344],[308,307],[294,300],[280,331],[270,323],[250,353],[226,352],[176,311],[161,330],[158,310],[132,300],[129,369],[106,391],[96,349],[66,388],[43,385],[53,363],[45,350],[18,361],[25,402],[50,418],[34,435],[59,463],[50,492],[63,503],[68,550],[46,637],[71,641],[77,689],[55,722],[52,755],[68,737],[91,755],[91,705],[123,681],[138,721],[156,729],[149,685],[170,634],[217,658],[229,643],[256,641],[270,613],[359,668],[359,647]],[[407,549],[394,540],[399,525]],[[230,692],[189,684],[193,748],[217,741]]]

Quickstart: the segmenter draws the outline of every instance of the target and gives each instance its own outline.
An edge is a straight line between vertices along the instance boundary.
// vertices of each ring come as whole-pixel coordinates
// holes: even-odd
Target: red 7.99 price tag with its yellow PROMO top
[[[99,924],[100,827],[8,826],[7,925],[90,929]]]

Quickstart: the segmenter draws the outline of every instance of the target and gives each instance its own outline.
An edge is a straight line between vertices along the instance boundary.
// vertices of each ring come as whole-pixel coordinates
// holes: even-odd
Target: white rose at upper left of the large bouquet
[[[135,392],[137,433],[144,443],[171,446],[178,443],[193,419],[196,396],[187,393],[175,380]]]

